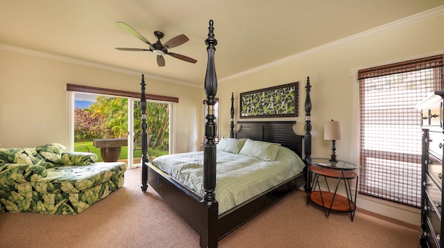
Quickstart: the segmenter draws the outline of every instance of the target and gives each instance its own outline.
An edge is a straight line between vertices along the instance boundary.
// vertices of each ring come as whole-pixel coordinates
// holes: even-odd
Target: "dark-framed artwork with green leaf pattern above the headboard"
[[[299,82],[240,94],[240,118],[298,116]]]

